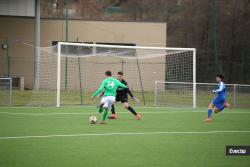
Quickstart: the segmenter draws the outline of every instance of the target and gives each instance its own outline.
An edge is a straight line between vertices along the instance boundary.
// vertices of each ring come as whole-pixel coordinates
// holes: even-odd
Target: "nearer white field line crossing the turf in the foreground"
[[[250,131],[166,131],[166,132],[118,132],[118,133],[79,133],[61,135],[36,135],[36,136],[6,136],[0,140],[29,139],[29,138],[54,138],[54,137],[82,137],[82,136],[117,136],[117,135],[157,135],[157,134],[215,134],[215,133],[250,133]]]

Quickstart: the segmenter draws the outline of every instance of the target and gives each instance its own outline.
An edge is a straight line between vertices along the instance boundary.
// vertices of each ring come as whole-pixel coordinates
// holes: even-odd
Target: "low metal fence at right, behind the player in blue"
[[[193,106],[195,96],[196,107],[207,106],[214,97],[212,90],[216,83],[196,83],[193,93],[191,82],[155,82],[154,104],[157,106]],[[227,101],[233,107],[250,108],[250,85],[225,84]]]

